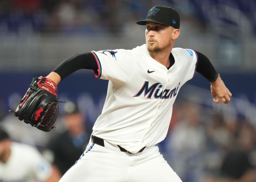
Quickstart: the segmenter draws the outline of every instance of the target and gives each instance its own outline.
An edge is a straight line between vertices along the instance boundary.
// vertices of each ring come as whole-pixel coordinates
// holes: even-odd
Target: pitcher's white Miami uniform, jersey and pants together
[[[60,182],[181,182],[155,144],[166,137],[180,87],[194,75],[196,52],[172,49],[175,63],[169,70],[150,57],[146,44],[92,54],[98,64],[95,76],[109,80],[92,132],[105,146],[90,142]]]

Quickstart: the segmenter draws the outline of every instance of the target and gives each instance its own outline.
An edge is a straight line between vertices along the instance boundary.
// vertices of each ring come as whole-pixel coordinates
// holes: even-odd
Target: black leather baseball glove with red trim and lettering
[[[59,113],[56,89],[57,85],[48,78],[42,76],[33,78],[14,116],[39,130],[51,131]]]

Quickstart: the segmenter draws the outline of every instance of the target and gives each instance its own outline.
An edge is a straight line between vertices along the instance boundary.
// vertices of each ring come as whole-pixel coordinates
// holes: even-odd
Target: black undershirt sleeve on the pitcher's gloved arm
[[[71,73],[80,69],[98,69],[97,62],[92,53],[75,54],[60,63],[56,68],[54,68],[53,72],[58,73],[61,80],[63,80]]]

